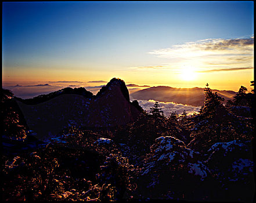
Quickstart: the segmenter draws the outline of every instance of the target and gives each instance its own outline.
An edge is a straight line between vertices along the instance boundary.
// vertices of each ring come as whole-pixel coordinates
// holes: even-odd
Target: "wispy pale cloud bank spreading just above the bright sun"
[[[228,68],[229,71],[237,70],[236,68],[249,69],[253,67],[254,61],[254,38],[203,39],[174,45],[171,48],[152,50],[149,53],[168,59],[168,69],[184,66],[193,66],[202,71],[207,68]]]

